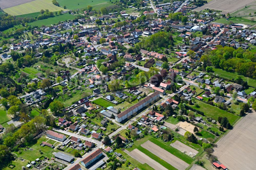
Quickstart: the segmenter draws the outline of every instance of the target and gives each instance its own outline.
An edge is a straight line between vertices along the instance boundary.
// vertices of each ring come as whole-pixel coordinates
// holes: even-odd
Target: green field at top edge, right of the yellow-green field
[[[93,8],[97,6],[98,4],[109,2],[109,0],[97,0],[97,1],[91,1],[91,0],[73,0],[72,3],[70,3],[69,0],[58,0],[60,6],[66,5],[68,9],[79,9],[87,7],[88,5],[92,6]],[[95,8],[94,8],[95,9]]]

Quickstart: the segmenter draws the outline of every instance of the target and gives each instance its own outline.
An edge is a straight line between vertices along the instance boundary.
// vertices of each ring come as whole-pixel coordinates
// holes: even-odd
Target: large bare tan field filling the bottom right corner
[[[234,129],[221,138],[214,155],[228,169],[255,169],[256,166],[256,113],[242,118]]]

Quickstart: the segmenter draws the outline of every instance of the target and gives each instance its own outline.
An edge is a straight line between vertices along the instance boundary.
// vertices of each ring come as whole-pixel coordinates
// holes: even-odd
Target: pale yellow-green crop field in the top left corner
[[[49,11],[63,10],[63,8],[53,5],[51,0],[35,0],[25,4],[5,8],[4,11],[10,15],[23,15],[39,12],[41,9],[49,9]]]

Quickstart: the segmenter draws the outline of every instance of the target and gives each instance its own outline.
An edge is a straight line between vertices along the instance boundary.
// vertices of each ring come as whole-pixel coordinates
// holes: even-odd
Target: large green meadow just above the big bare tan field
[[[231,125],[233,125],[239,119],[239,116],[237,116],[237,115],[234,115],[234,114],[229,113],[227,111],[221,110],[218,107],[209,105],[209,104],[204,103],[204,102],[202,102],[200,100],[195,100],[194,103],[199,104],[200,107],[197,108],[197,107],[195,107],[195,105],[190,105],[190,107],[193,107],[196,110],[204,112],[205,116],[211,117],[211,118],[213,118],[215,120],[218,120],[219,116],[227,117],[228,120],[229,120],[229,123]]]

